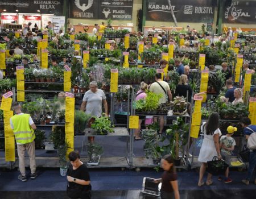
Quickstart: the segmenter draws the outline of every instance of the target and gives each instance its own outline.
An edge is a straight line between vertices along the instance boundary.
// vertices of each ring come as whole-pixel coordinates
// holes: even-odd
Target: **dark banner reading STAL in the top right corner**
[[[223,22],[255,24],[255,7],[256,1],[232,1],[231,4],[224,7]]]

